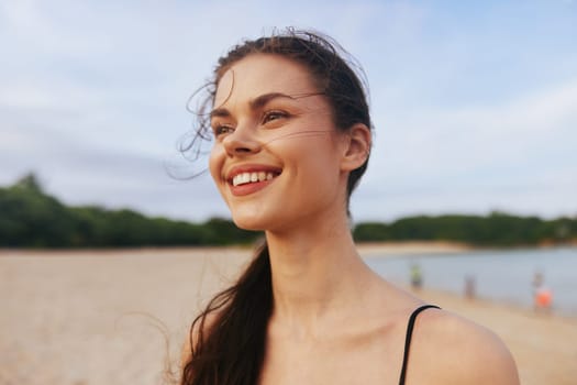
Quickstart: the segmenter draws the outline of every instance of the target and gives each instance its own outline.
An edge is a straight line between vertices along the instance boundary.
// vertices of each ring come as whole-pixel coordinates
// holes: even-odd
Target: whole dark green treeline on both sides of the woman
[[[577,218],[542,220],[493,212],[479,216],[411,217],[365,222],[358,242],[455,241],[478,246],[558,244],[577,241]],[[132,210],[66,207],[43,193],[34,175],[0,187],[0,248],[127,248],[253,243],[259,232],[226,219],[190,223],[148,218]]]

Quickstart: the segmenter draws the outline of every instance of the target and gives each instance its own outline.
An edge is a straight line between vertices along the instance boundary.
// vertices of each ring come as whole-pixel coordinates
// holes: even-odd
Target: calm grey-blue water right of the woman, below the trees
[[[533,306],[535,273],[553,293],[553,310],[577,317],[577,248],[490,250],[452,254],[419,254],[367,258],[369,266],[398,284],[410,280],[418,265],[423,287],[464,294],[473,277],[478,297],[522,307]]]

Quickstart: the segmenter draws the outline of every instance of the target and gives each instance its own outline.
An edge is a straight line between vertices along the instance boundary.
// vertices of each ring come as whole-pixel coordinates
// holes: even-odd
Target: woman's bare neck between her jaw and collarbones
[[[346,217],[337,222],[267,232],[274,319],[311,332],[341,317],[341,309],[355,308],[373,273],[358,256]]]

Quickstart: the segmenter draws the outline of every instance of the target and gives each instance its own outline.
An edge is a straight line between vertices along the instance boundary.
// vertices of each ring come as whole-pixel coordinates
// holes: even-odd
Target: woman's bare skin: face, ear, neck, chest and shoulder
[[[397,384],[407,321],[423,302],[371,272],[351,235],[346,182],[368,156],[370,130],[337,131],[307,68],[271,54],[226,70],[211,125],[211,175],[235,223],[264,230],[269,248],[274,310],[260,383]],[[428,309],[407,384],[519,380],[490,331]]]

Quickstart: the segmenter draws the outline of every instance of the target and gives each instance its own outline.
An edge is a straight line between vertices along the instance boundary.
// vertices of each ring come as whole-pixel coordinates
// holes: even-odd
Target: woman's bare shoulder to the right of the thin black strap
[[[514,360],[499,337],[436,309],[418,318],[407,380],[408,384],[519,384]]]

